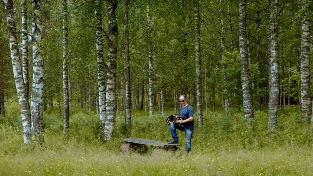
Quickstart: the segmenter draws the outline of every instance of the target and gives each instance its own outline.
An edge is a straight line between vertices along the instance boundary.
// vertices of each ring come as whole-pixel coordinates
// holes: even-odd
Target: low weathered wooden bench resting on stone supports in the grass
[[[121,147],[121,152],[127,152],[130,148],[138,152],[146,152],[148,150],[147,145],[156,146],[157,148],[155,151],[160,150],[160,148],[177,150],[178,146],[182,146],[182,144],[168,144],[167,142],[142,138],[121,138],[121,141],[124,141],[124,144]]]

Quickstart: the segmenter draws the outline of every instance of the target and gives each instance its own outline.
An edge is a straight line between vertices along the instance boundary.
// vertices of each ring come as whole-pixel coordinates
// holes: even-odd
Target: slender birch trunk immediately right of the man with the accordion
[[[196,62],[196,84],[197,84],[197,119],[198,127],[203,125],[202,118],[202,79],[201,79],[201,56],[200,56],[200,11],[199,1],[195,1],[195,62]]]

